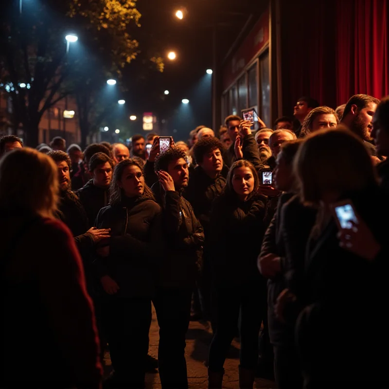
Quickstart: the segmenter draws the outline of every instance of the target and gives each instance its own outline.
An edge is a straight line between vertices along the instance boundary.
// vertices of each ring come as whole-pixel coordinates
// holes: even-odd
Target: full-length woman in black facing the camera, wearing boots
[[[222,388],[223,365],[240,322],[239,387],[252,388],[258,362],[258,336],[266,304],[266,283],[256,266],[264,234],[265,197],[258,195],[254,166],[231,166],[224,193],[213,202],[210,246],[216,288],[216,331],[210,354],[210,388]]]

